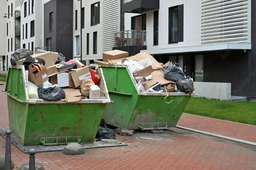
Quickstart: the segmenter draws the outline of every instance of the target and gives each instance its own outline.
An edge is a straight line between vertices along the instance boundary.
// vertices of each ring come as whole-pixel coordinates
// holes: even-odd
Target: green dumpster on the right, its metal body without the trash
[[[183,92],[141,92],[126,65],[100,65],[114,104],[107,105],[103,119],[107,124],[127,130],[175,127],[188,104]]]

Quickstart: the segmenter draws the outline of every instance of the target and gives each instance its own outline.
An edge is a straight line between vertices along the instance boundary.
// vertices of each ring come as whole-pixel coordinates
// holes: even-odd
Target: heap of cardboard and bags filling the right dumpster
[[[147,53],[129,57],[129,53],[112,50],[102,55],[103,61],[94,60],[101,65],[127,65],[142,92],[185,92],[192,94],[194,81],[186,77],[177,63],[158,63]]]

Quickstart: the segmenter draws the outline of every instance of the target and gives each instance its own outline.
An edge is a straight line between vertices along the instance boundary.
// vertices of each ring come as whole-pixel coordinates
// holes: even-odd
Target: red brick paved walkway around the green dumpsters
[[[7,126],[7,101],[2,89],[0,86],[0,126]],[[188,128],[206,127],[204,124],[193,126],[193,117],[195,124],[198,124],[201,117],[184,114],[179,125],[185,126],[188,122]],[[127,143],[128,146],[86,149],[86,154],[81,156],[66,156],[60,151],[37,153],[36,160],[41,162],[45,169],[54,170],[256,169],[256,147],[180,129],[172,130],[161,134],[167,140],[145,141],[137,138],[153,135],[145,133],[135,133],[132,137],[117,135],[117,140]],[[4,138],[0,137],[0,155],[4,155],[4,143]],[[28,155],[12,146],[12,159],[15,166],[19,167],[28,160]]]

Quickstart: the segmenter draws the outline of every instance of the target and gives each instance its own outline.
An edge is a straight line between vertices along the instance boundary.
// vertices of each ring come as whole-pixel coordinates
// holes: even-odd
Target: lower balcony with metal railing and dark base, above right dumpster
[[[115,46],[118,49],[128,52],[130,56],[140,53],[140,50],[147,49],[147,31],[126,30],[115,33]]]

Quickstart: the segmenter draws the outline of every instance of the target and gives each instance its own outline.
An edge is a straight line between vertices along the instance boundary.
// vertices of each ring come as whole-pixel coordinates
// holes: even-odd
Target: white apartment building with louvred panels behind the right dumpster
[[[195,81],[231,83],[232,96],[256,98],[255,1],[121,3],[124,20],[113,49],[179,63]]]

